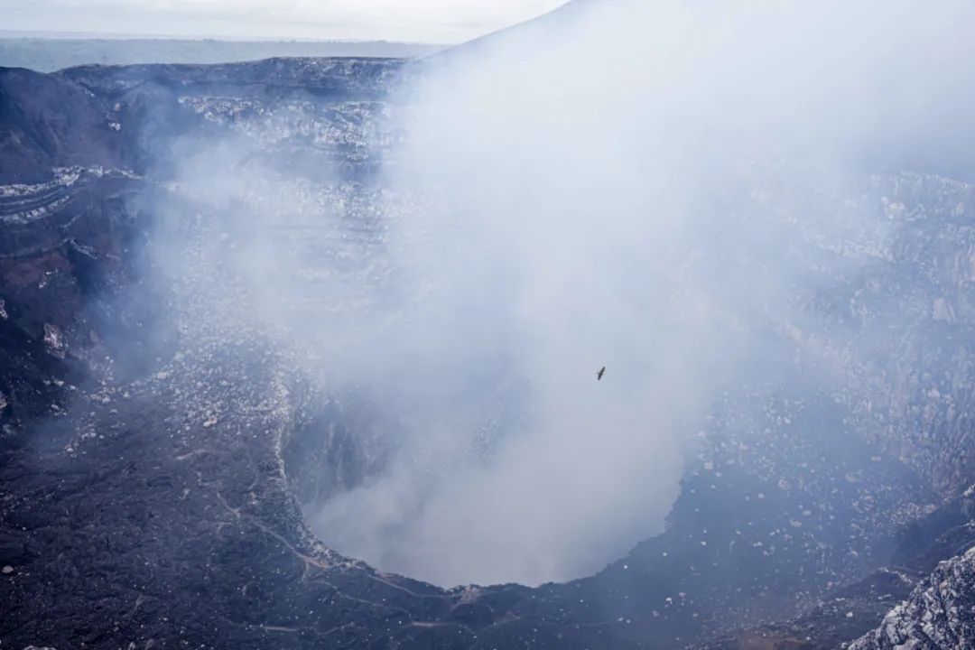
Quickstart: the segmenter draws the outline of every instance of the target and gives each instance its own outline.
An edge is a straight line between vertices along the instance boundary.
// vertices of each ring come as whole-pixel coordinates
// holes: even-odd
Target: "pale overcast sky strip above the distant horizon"
[[[565,0],[0,0],[4,30],[459,43]]]

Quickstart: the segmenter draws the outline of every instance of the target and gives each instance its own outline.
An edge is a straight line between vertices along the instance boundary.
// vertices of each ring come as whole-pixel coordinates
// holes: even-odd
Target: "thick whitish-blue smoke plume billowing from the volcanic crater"
[[[907,160],[971,169],[973,19],[948,0],[577,2],[410,67],[358,195],[234,168],[246,140],[187,162],[188,195],[248,206],[214,253],[246,287],[235,318],[388,418],[382,472],[308,505],[316,532],[441,585],[566,580],[659,532],[711,402],[804,371],[766,345],[816,327],[783,234],[882,238],[865,208],[802,197]],[[194,187],[201,169],[233,172]]]

